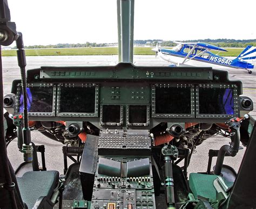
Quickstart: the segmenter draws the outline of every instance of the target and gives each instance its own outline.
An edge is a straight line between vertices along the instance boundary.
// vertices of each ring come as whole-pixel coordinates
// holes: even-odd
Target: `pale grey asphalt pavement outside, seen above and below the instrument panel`
[[[21,78],[16,57],[3,57],[3,84],[4,95],[10,93],[11,83],[14,79]],[[27,70],[40,68],[41,66],[93,66],[93,65],[116,65],[118,56],[45,56],[27,57]],[[139,66],[168,66],[169,63],[155,58],[155,56],[134,56],[134,65]],[[230,80],[241,80],[243,83],[243,95],[253,100],[256,109],[256,69],[251,75],[245,70],[229,70]],[[251,112],[256,118],[256,111]],[[32,141],[35,144],[44,144],[46,147],[45,159],[48,170],[58,170],[63,173],[63,154],[62,144],[44,137],[37,131],[31,133]],[[205,172],[208,161],[208,150],[219,149],[222,145],[228,144],[230,139],[224,137],[212,137],[199,145],[192,155],[191,164],[188,172]],[[245,149],[240,150],[235,157],[226,157],[224,163],[232,166],[236,171],[244,155]],[[12,141],[8,147],[9,159],[12,166],[16,169],[23,162],[23,155],[18,151],[17,139]],[[39,155],[38,155],[39,157]],[[39,157],[40,159],[40,157]],[[71,161],[69,161],[71,163]],[[182,162],[181,162],[182,164]],[[212,165],[215,164],[213,159]]]

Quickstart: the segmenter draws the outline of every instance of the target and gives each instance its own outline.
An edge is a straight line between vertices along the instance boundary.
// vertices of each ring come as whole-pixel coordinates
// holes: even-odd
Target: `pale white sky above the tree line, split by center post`
[[[24,45],[117,43],[116,0],[8,0]],[[134,40],[256,39],[255,0],[135,0]]]

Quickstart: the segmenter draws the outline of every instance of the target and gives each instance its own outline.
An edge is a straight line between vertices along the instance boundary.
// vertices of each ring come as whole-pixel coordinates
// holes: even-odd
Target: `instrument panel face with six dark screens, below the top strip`
[[[115,91],[104,91],[102,96],[104,83],[29,84],[30,116],[99,117],[101,125],[146,126],[150,118],[228,118],[238,115],[236,85],[144,83],[143,91],[141,84],[134,91],[136,83],[123,83],[125,88],[120,83],[112,85]],[[117,86],[119,91],[116,91]],[[23,95],[19,87],[16,101],[16,113],[23,112]]]

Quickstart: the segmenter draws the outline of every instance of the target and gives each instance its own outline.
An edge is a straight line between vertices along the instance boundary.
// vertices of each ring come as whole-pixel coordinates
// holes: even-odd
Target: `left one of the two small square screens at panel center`
[[[103,105],[103,123],[120,123],[121,106],[120,105]]]

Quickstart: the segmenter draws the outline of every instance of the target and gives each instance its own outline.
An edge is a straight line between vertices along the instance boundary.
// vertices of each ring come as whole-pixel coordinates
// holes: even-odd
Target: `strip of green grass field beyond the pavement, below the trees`
[[[134,47],[134,55],[154,55],[149,47]],[[165,48],[168,49],[168,48]],[[242,49],[230,48],[228,52],[220,52],[218,55],[236,57]],[[218,53],[218,51],[213,51]],[[26,56],[64,56],[64,55],[117,55],[116,47],[101,48],[63,48],[63,49],[26,49]],[[2,50],[2,56],[16,56],[16,50]]]

